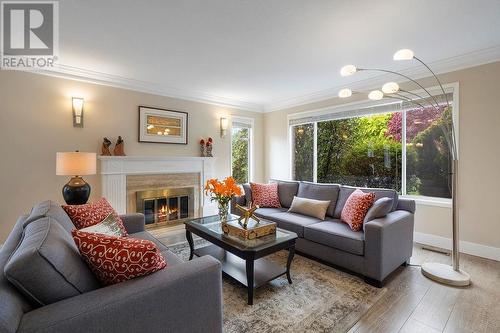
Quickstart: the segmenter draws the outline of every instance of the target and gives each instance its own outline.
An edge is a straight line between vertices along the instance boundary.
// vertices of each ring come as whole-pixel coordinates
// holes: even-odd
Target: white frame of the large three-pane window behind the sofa
[[[452,93],[453,94],[453,109],[452,109],[452,118],[453,118],[453,127],[455,131],[455,137],[456,137],[456,145],[457,145],[457,154],[460,156],[460,149],[459,149],[459,114],[460,114],[460,107],[459,107],[459,83],[454,82],[454,83],[449,83],[449,84],[444,84],[443,88],[445,89],[446,93]],[[441,88],[439,86],[434,86],[431,88],[427,89],[431,94],[442,94]],[[425,91],[422,89],[419,90],[413,90],[410,91],[415,94],[419,94],[421,96],[425,95]],[[310,111],[304,111],[304,112],[298,112],[298,113],[293,113],[293,114],[288,114],[287,115],[287,142],[289,146],[289,179],[293,179],[293,127],[298,126],[298,125],[304,125],[304,124],[314,124],[314,172],[313,172],[313,181],[317,182],[317,157],[318,157],[318,147],[317,147],[317,129],[318,129],[318,120],[316,121],[307,121],[307,117],[316,117],[316,116],[322,116],[322,115],[328,115],[328,114],[334,114],[334,113],[339,113],[339,112],[349,112],[352,111],[352,117],[360,117],[362,115],[356,115],[355,111],[359,110],[361,108],[367,108],[367,107],[375,107],[375,106],[382,106],[389,104],[387,103],[387,100],[382,100],[382,101],[368,101],[368,100],[363,100],[363,101],[358,101],[358,102],[351,102],[351,103],[346,103],[346,104],[340,104],[336,105],[333,107],[327,107],[327,108],[322,108],[322,109],[315,109],[315,110],[310,110]],[[390,104],[394,104],[394,102],[391,102]],[[407,110],[402,110],[402,123],[406,125],[406,113]],[[303,122],[301,121],[295,121],[293,125],[290,124],[291,120],[300,120],[304,119]],[[402,154],[402,165],[401,165],[401,197],[403,198],[410,198],[415,200],[419,204],[423,205],[429,205],[429,206],[439,206],[439,207],[446,207],[449,208],[452,205],[452,199],[449,198],[440,198],[440,197],[428,197],[428,196],[423,196],[423,195],[408,195],[406,193],[406,126],[403,126],[401,129],[401,134],[402,134],[402,149],[401,149],[401,154]]]

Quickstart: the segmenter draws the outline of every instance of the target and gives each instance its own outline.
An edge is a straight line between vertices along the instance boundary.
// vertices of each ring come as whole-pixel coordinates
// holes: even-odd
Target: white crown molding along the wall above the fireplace
[[[227,108],[241,109],[245,111],[264,112],[263,105],[240,101],[231,98],[215,96],[208,93],[192,90],[183,90],[164,86],[148,81],[131,79],[119,75],[113,75],[89,69],[58,64],[52,70],[38,70],[35,73],[59,77],[64,79],[88,82],[104,86],[128,89],[143,93],[183,99],[188,101],[207,103]]]

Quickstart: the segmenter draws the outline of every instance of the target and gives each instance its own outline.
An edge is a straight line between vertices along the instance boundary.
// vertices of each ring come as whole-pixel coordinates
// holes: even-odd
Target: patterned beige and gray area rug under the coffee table
[[[187,243],[169,249],[188,260]],[[286,266],[287,255],[281,251],[266,258]],[[300,255],[291,273],[291,285],[282,276],[256,289],[253,306],[247,305],[243,286],[224,278],[224,332],[347,332],[386,291]]]

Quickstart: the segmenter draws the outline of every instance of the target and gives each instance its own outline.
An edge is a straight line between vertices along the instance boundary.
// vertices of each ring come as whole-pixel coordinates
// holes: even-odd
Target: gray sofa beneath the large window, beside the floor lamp
[[[365,281],[381,287],[390,273],[406,265],[413,249],[413,217],[415,202],[398,198],[390,189],[361,188],[375,193],[375,199],[393,199],[391,212],[385,217],[364,224],[362,231],[352,231],[340,221],[342,208],[356,189],[336,184],[276,181],[282,208],[259,208],[255,215],[274,221],[278,227],[297,233],[296,250],[364,276]],[[242,206],[252,201],[250,186],[245,184],[245,195],[236,197],[231,212],[239,214],[234,204]],[[293,197],[330,200],[324,221],[310,216],[288,212]]]

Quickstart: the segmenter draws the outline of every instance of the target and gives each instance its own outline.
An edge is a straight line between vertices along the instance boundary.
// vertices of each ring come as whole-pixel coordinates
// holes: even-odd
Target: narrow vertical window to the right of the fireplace
[[[233,120],[231,129],[231,173],[238,184],[248,183],[251,169],[251,120]]]

